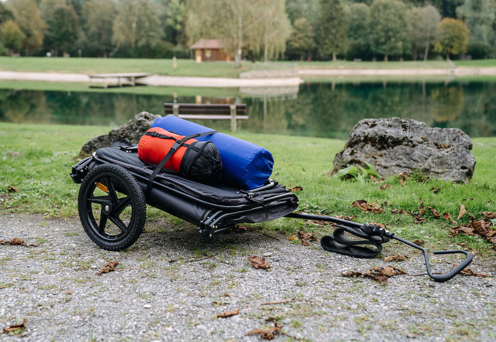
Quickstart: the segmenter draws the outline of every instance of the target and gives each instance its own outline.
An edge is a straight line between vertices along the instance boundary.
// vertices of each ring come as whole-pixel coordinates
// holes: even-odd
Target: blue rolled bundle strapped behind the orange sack
[[[211,128],[187,121],[174,115],[156,119],[152,127],[160,127],[177,134],[189,135],[212,131]],[[195,138],[212,141],[222,159],[221,180],[243,190],[263,186],[272,173],[274,159],[265,148],[224,133]]]

